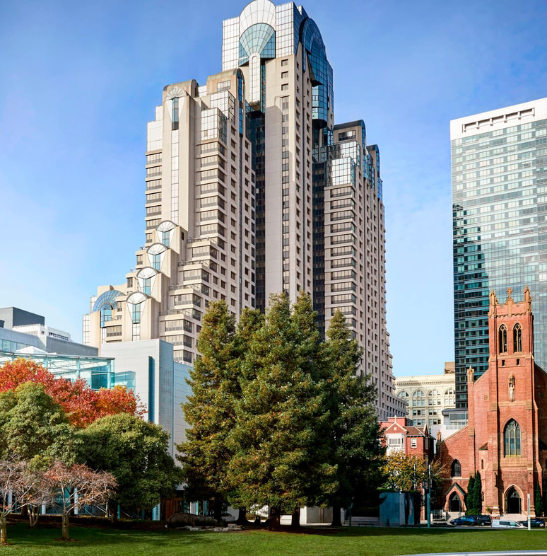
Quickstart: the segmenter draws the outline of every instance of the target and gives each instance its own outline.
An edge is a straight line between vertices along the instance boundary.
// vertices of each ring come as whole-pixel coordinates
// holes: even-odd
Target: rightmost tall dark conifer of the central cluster
[[[324,365],[330,419],[330,457],[337,469],[338,489],[326,497],[333,526],[341,525],[341,507],[366,499],[382,486],[385,448],[374,405],[376,391],[358,375],[362,349],[350,338],[346,318],[337,311],[324,343]]]

